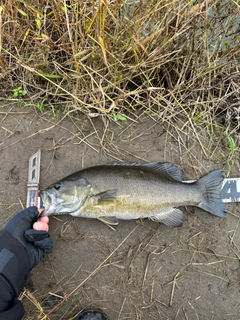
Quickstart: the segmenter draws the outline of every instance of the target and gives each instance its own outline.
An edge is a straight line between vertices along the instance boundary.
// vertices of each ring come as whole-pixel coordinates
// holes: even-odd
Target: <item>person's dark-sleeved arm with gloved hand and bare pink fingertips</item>
[[[38,210],[30,207],[14,216],[0,231],[0,319],[18,320],[23,307],[18,295],[27,274],[52,251],[48,219],[38,221]]]

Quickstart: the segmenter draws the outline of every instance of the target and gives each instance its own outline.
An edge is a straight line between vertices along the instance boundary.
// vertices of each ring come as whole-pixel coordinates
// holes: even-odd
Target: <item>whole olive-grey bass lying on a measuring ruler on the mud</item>
[[[82,169],[41,190],[43,215],[95,218],[109,226],[119,220],[149,218],[180,227],[180,206],[196,206],[226,217],[220,197],[224,173],[214,170],[187,183],[171,162],[114,162]]]

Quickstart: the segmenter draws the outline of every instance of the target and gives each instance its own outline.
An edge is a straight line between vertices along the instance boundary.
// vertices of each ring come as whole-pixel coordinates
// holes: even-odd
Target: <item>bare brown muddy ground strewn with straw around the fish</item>
[[[41,189],[116,159],[171,161],[184,179],[227,170],[223,142],[214,149],[203,132],[199,144],[183,130],[176,135],[161,119],[139,114],[133,120],[120,127],[101,118],[74,113],[53,118],[3,105],[0,227],[25,204],[28,159],[39,148]],[[231,176],[239,176],[237,160]],[[144,220],[120,221],[113,231],[97,220],[51,217],[55,246],[32,271],[21,296],[24,319],[71,319],[85,308],[102,309],[112,320],[240,319],[239,204],[227,204],[226,219],[197,208],[182,210],[185,223],[174,229]]]

